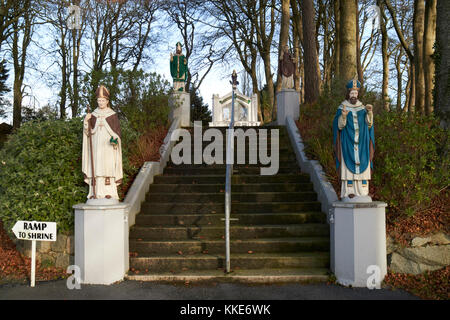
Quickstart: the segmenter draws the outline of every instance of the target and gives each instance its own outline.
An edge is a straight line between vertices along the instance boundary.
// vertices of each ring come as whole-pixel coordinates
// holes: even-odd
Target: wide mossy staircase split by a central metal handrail
[[[130,230],[128,279],[328,279],[329,226],[309,176],[300,172],[284,127],[255,129],[260,128],[279,129],[279,171],[262,176],[261,164],[234,164],[231,218],[236,220],[231,221],[230,231],[233,272],[224,273],[226,165],[169,162],[164,174],[155,176]],[[217,129],[225,132],[225,128]],[[268,136],[270,152],[270,133]],[[254,149],[246,146],[247,162],[248,150]],[[235,159],[236,152],[235,147]]]

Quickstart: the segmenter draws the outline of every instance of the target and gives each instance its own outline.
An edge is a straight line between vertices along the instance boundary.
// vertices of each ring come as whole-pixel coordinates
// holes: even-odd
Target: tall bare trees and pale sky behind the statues
[[[68,28],[69,5],[81,8],[80,29]],[[0,116],[12,111],[20,127],[33,101],[26,75],[54,90],[56,105],[44,109],[61,118],[85,112],[105,79],[112,102],[132,100],[123,73],[168,56],[158,43],[170,30],[189,61],[187,90],[214,68],[238,66],[240,90],[259,95],[264,123],[276,118],[278,57],[288,44],[301,103],[357,75],[385,110],[435,114],[448,128],[449,18],[450,2],[437,0],[0,0]]]

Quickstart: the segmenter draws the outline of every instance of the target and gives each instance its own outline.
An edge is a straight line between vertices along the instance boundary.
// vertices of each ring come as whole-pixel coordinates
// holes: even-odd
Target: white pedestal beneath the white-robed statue
[[[77,204],[75,209],[75,265],[81,283],[112,284],[129,268],[128,204]]]

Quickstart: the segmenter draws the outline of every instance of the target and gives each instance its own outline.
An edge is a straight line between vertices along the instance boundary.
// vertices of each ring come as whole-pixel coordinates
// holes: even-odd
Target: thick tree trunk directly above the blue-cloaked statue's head
[[[356,14],[355,1],[340,1],[340,62],[339,78],[344,81],[351,80],[357,75],[356,58]],[[305,70],[306,71],[306,70]]]

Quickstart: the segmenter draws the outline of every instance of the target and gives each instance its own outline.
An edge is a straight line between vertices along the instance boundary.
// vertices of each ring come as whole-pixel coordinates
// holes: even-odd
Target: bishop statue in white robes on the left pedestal
[[[82,171],[89,184],[88,199],[119,200],[122,183],[122,137],[119,117],[109,106],[109,91],[96,91],[98,108],[84,119]],[[88,200],[89,201],[89,200]]]

